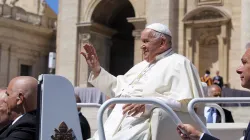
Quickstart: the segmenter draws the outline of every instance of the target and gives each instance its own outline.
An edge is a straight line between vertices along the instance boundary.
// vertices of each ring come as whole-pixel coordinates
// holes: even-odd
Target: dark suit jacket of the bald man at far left
[[[0,140],[35,140],[36,111],[24,114],[13,125],[6,125],[0,130]]]

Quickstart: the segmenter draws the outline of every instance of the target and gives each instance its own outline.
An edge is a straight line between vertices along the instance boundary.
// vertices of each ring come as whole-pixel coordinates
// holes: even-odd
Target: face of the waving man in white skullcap
[[[152,36],[151,29],[143,30],[141,34],[142,46],[144,60],[151,63],[155,60],[155,57],[161,53],[161,39]]]

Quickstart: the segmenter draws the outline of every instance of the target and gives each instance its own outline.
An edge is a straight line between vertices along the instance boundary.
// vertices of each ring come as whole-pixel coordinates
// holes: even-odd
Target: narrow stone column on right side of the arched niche
[[[224,84],[228,84],[228,45],[227,25],[221,25],[221,34],[218,35],[219,40],[219,69],[223,77]]]

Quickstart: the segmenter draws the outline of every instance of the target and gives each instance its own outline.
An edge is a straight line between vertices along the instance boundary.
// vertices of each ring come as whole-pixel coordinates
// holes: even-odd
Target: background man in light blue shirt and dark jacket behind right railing
[[[218,85],[211,85],[208,87],[208,95],[210,97],[221,97],[221,88]],[[225,113],[225,119],[227,123],[233,123],[234,119],[231,111],[222,108]],[[212,107],[205,107],[204,115],[207,119],[207,123],[221,123],[221,114],[218,110]]]

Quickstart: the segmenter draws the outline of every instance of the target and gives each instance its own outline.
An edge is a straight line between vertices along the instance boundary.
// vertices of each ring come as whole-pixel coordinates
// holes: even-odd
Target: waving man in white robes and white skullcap
[[[117,77],[101,68],[95,48],[84,46],[92,72],[89,82],[109,97],[158,98],[175,111],[187,111],[188,102],[203,97],[199,74],[184,56],[174,53],[167,26],[154,23],[141,33],[144,61]],[[151,104],[116,105],[105,122],[107,140],[150,139]],[[92,139],[98,139],[98,134]]]

